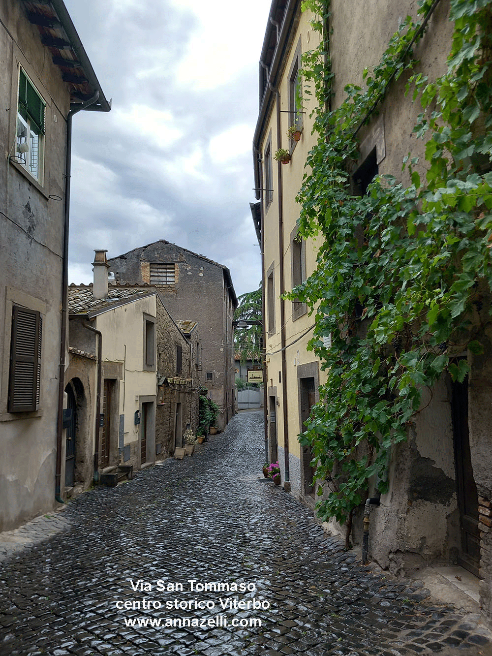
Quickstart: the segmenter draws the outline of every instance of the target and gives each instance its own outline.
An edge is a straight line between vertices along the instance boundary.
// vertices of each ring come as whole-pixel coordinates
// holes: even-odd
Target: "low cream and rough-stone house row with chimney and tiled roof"
[[[197,324],[178,327],[149,285],[110,285],[106,251],[93,266],[93,285],[68,289],[69,494],[173,455],[197,426]]]

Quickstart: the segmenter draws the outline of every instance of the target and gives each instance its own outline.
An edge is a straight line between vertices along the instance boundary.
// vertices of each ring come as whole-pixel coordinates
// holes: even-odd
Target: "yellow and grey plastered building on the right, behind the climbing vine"
[[[310,408],[319,399],[325,374],[307,344],[314,321],[300,302],[283,298],[316,268],[319,243],[297,237],[304,164],[312,145],[314,97],[304,95],[298,106],[300,57],[316,48],[310,12],[300,0],[274,0],[260,56],[260,110],[253,143],[256,199],[253,220],[262,245],[264,344],[266,351],[265,408],[270,461],[279,459],[283,485],[314,507],[316,501],[309,447],[300,447]],[[453,24],[449,5],[434,3],[428,31],[415,47],[423,75],[436,79],[447,67]],[[331,106],[339,106],[348,83],[364,85],[363,71],[372,70],[398,30],[401,17],[415,18],[411,0],[364,3],[332,0],[329,56],[333,77]],[[392,174],[409,184],[401,162],[409,152],[424,160],[425,143],[412,135],[419,104],[405,96],[405,80],[392,82],[377,115],[360,133],[359,159],[352,164],[354,194],[376,174]],[[298,142],[287,136],[293,124],[302,129]],[[290,161],[274,160],[279,148]],[[492,439],[487,408],[492,402],[491,336],[482,356],[464,354],[471,370],[468,384],[443,376],[422,400],[407,442],[394,448],[389,464],[390,489],[371,514],[370,556],[394,573],[409,573],[429,564],[458,563],[480,577],[483,611],[492,617],[490,517]],[[329,348],[329,342],[325,344]],[[428,405],[426,405],[428,404]],[[426,407],[423,407],[426,406]],[[480,499],[480,517],[479,517]],[[337,529],[333,524],[332,529]],[[339,528],[339,527],[338,527]],[[361,516],[354,527],[361,537]]]

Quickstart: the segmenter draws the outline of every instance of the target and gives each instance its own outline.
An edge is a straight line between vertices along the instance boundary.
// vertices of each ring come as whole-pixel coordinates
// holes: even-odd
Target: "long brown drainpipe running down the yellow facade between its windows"
[[[277,96],[277,148],[282,147],[282,134],[281,134],[281,113],[280,113],[280,92],[268,83],[270,91]],[[283,294],[285,292],[285,270],[283,262],[283,188],[282,188],[282,167],[283,164],[277,161],[277,182],[278,182],[278,229],[279,229],[279,275],[280,275],[280,345],[281,345],[281,362],[282,362],[282,398],[283,398],[283,441],[284,441],[284,456],[285,456],[285,482],[290,481],[289,472],[289,424],[287,415],[287,354],[285,353],[285,300]]]

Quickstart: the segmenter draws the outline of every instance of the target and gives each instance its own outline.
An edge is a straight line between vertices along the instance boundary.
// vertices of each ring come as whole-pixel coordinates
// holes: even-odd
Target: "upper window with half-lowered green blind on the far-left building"
[[[22,68],[19,93],[14,161],[43,184],[46,103]]]

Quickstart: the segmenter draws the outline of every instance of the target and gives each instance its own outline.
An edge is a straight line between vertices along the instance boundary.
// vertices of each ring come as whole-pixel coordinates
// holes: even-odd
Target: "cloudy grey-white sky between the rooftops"
[[[256,289],[249,202],[258,60],[270,0],[65,0],[110,113],[73,119],[70,267],[157,239]]]

